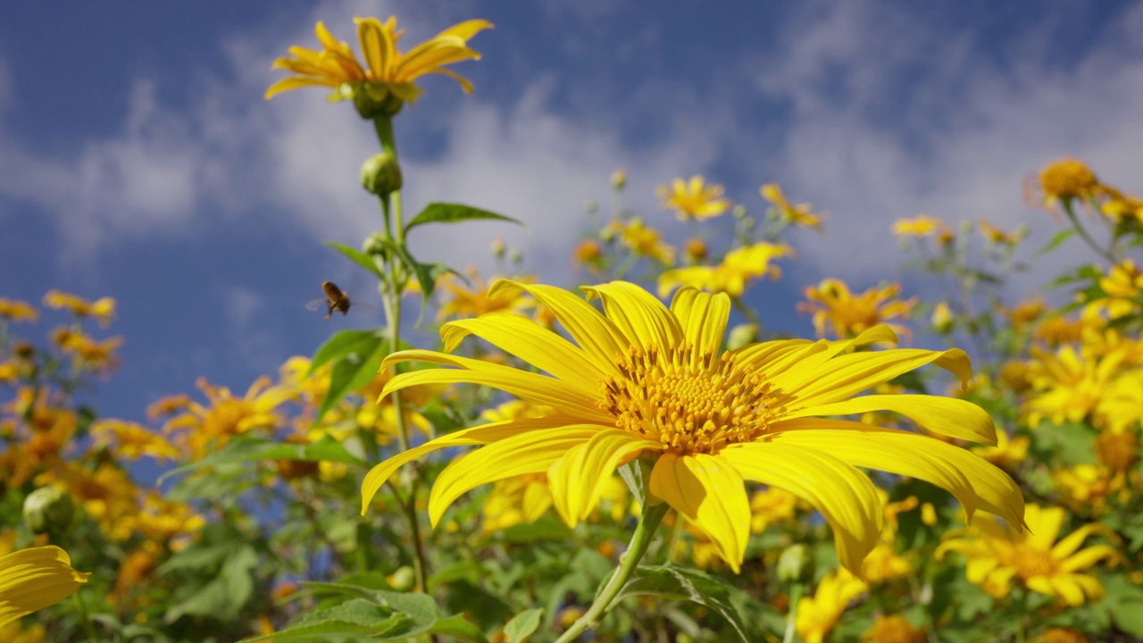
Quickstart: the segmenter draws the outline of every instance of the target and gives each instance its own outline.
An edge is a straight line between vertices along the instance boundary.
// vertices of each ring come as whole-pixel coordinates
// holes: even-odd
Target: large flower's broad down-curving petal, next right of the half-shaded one
[[[754,442],[724,448],[749,481],[784,489],[817,509],[833,529],[838,559],[855,575],[881,533],[881,500],[869,477],[852,465],[814,448]]]

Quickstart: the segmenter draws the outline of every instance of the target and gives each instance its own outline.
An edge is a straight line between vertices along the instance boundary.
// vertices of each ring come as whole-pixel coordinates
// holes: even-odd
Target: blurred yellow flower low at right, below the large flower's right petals
[[[1079,572],[1103,559],[1116,561],[1119,554],[1109,545],[1080,550],[1093,533],[1114,538],[1114,532],[1100,523],[1084,525],[1056,542],[1066,519],[1068,514],[1058,507],[1029,505],[1024,514],[1028,529],[1016,532],[1010,523],[1006,527],[994,517],[982,515],[967,530],[951,534],[936,555],[964,554],[968,558],[968,580],[998,598],[1009,595],[1013,584],[1020,584],[1076,608],[1103,597],[1100,580]]]

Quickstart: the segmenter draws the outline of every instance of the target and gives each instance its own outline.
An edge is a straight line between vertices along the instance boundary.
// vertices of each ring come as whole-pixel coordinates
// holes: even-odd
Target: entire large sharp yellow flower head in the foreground
[[[750,534],[744,481],[785,489],[821,511],[850,570],[860,570],[877,545],[882,519],[877,492],[857,467],[929,481],[951,491],[969,514],[982,508],[1021,524],[1020,490],[968,451],[920,434],[818,419],[886,410],[933,432],[994,444],[992,419],[968,402],[854,397],[934,363],[967,381],[972,366],[959,349],[849,352],[896,340],[877,326],[850,341],[780,340],[720,354],[730,313],[726,294],[682,288],[668,309],[642,288],[613,281],[585,288],[602,300],[600,313],[553,286],[502,280],[491,289],[529,293],[578,346],[519,315],[451,322],[441,328],[446,350],[473,334],[541,372],[406,350],[389,356],[383,367],[426,362],[454,368],[397,375],[385,392],[469,382],[551,411],[457,431],[390,458],[366,476],[362,511],[406,462],[448,446],[483,445],[437,478],[429,500],[433,524],[475,486],[545,473],[557,511],[574,525],[591,514],[613,471],[640,455],[653,466],[649,502],[668,502],[708,534],[735,570]]]

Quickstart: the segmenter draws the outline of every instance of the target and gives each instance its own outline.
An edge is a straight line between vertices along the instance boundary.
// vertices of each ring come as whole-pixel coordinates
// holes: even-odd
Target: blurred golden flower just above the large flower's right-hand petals
[[[898,294],[901,284],[872,287],[854,295],[845,281],[829,278],[822,279],[816,288],[806,288],[808,301],[799,303],[798,310],[814,313],[814,328],[818,336],[825,335],[825,323],[829,322],[839,339],[849,338],[889,319],[908,318],[917,305],[917,297],[895,299]],[[900,324],[887,325],[906,338],[910,335],[909,330]]]

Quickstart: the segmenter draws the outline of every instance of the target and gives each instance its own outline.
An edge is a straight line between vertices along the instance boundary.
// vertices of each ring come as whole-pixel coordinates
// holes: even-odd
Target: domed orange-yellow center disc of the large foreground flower
[[[770,382],[733,354],[694,347],[632,348],[604,382],[604,408],[616,427],[677,453],[717,453],[751,442],[774,418]]]

